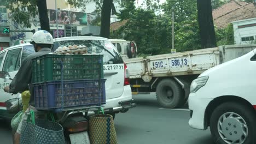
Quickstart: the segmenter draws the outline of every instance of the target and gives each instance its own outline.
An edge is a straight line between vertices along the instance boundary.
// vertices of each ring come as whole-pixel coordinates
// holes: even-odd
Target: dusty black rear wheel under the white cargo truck
[[[156,87],[156,99],[162,107],[173,109],[181,105],[184,95],[176,81],[164,79]]]

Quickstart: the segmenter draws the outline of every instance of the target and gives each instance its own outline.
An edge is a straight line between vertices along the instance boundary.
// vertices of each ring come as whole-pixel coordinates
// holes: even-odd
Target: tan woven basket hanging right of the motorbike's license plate
[[[111,115],[95,115],[89,120],[89,137],[91,144],[116,144],[117,134]]]

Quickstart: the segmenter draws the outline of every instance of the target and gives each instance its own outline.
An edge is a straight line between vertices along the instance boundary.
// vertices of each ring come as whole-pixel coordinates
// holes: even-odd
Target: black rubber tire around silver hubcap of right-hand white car
[[[253,111],[253,109],[251,107],[248,107],[243,104],[235,103],[235,102],[228,102],[228,103],[221,104],[213,111],[213,113],[211,115],[211,119],[210,119],[210,128],[211,128],[211,134],[214,139],[214,142],[216,142],[218,144],[226,144],[226,142],[222,139],[222,137],[220,136],[220,134],[218,132],[218,121],[219,121],[219,118],[224,113],[227,113],[227,112],[232,112],[232,113],[238,114],[246,122],[246,125],[248,128],[247,129],[248,136],[242,144],[256,143],[255,138],[254,138],[256,135],[255,112]],[[243,120],[240,119],[240,121],[243,121]],[[239,134],[239,131],[238,131],[238,133],[236,131],[238,129],[238,127],[236,126],[236,123],[234,123],[232,121],[230,121],[230,122],[231,123],[229,123],[229,124],[231,126],[229,126],[229,125],[226,126],[226,122],[223,121],[222,125],[223,125],[223,127],[225,126],[226,129],[223,129],[222,131],[225,131],[225,133],[228,133],[230,135]],[[234,128],[232,127],[232,124],[234,124],[233,125]],[[236,127],[237,127],[237,129],[236,129]],[[220,128],[222,128],[222,127],[220,127]],[[241,137],[241,136],[237,136],[237,137]]]

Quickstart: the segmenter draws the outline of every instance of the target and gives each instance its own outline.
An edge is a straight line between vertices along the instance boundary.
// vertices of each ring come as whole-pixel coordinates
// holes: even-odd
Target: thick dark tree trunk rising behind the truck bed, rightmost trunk
[[[211,0],[197,0],[197,15],[202,49],[216,47]]]

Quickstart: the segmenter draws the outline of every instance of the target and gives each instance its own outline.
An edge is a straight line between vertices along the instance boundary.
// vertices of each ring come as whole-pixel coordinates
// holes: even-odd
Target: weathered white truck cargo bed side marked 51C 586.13
[[[164,77],[201,74],[218,64],[218,47],[174,54],[132,58],[125,62],[129,68],[130,79],[143,76]]]

